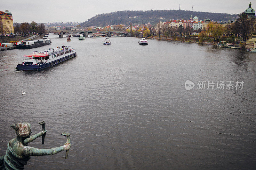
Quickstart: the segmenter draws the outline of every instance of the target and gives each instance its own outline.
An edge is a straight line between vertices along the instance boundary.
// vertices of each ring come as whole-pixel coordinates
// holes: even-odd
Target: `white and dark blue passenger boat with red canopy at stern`
[[[35,51],[31,55],[26,55],[22,63],[19,63],[16,70],[38,71],[47,67],[59,64],[62,61],[76,56],[76,50],[69,46],[62,46],[52,51]]]

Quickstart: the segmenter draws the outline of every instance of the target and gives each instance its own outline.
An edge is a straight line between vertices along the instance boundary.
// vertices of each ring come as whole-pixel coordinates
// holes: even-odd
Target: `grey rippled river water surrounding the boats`
[[[68,159],[33,156],[25,169],[256,168],[255,53],[154,39],[140,46],[132,37],[110,37],[111,45],[49,38],[51,45],[0,52],[0,156],[16,137],[11,124],[29,122],[34,134],[44,120],[44,145],[40,137],[29,146],[64,145],[60,134],[69,132]],[[15,70],[25,55],[62,45],[77,56],[39,72]],[[244,84],[207,89],[208,81]]]

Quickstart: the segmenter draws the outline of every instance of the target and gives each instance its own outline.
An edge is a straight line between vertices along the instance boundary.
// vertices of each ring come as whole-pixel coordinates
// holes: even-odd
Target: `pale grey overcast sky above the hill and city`
[[[123,10],[181,10],[241,13],[250,0],[0,0],[0,11],[9,10],[13,22],[84,22],[97,14]],[[256,10],[256,1],[252,2]],[[204,19],[204,18],[199,18]]]

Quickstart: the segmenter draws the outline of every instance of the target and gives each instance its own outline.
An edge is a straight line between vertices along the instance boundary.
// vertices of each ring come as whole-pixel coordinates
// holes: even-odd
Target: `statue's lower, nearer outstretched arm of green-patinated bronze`
[[[34,147],[25,146],[23,149],[22,155],[26,155],[26,156],[54,155],[58,152],[69,149],[70,145],[63,145],[63,146],[52,148],[52,149],[38,149]]]

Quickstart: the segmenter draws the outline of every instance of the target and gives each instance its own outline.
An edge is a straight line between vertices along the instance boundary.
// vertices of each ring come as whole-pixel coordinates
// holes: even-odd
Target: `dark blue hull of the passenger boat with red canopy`
[[[63,61],[66,61],[68,59],[71,59],[73,57],[76,56],[76,53],[74,54],[70,54],[68,56],[62,57],[58,60],[49,62],[49,63],[45,63],[45,64],[41,64],[41,65],[17,65],[16,70],[23,70],[23,71],[39,71],[39,70],[43,70],[44,68],[48,68],[51,66],[54,66],[56,64],[59,64]]]

